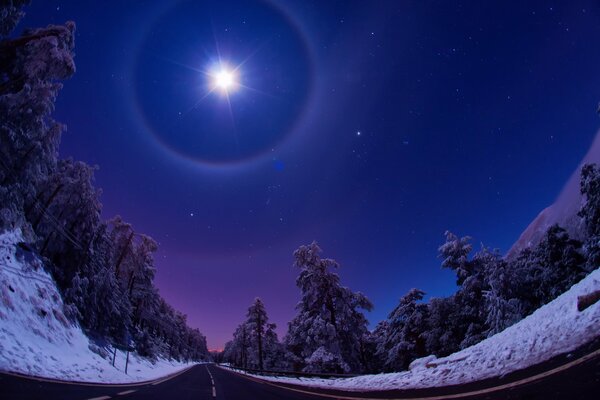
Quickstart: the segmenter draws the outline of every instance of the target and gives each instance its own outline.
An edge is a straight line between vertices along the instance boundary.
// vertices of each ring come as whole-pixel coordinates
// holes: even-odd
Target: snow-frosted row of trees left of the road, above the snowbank
[[[157,243],[119,216],[103,221],[97,167],[58,157],[65,127],[51,113],[75,73],[75,24],[11,38],[27,3],[0,4],[0,230],[22,232],[90,336],[150,358],[206,359],[204,335],[154,285]]]

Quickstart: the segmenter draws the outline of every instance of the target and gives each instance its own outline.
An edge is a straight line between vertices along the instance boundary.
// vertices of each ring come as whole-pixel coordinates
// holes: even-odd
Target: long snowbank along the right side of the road
[[[338,379],[257,377],[331,389],[390,390],[456,385],[504,375],[600,336],[600,302],[577,311],[577,296],[596,290],[600,290],[600,269],[503,332],[448,357],[415,360],[409,371]]]

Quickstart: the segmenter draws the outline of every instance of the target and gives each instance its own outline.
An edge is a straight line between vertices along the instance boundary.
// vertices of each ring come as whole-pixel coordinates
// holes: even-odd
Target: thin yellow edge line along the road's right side
[[[521,386],[521,385],[525,385],[527,383],[531,383],[534,381],[537,381],[539,379],[542,378],[546,378],[550,375],[554,375],[558,372],[564,371],[566,369],[569,369],[571,367],[574,367],[576,365],[582,364],[596,356],[600,355],[600,349],[589,353],[581,358],[578,358],[577,360],[573,360],[567,364],[563,364],[561,366],[558,366],[556,368],[553,368],[551,370],[539,373],[537,375],[534,376],[530,376],[528,378],[523,378],[523,379],[519,379],[517,381],[514,382],[510,382],[510,383],[505,383],[503,385],[499,385],[499,386],[493,386],[491,388],[486,388],[486,389],[479,389],[479,390],[473,390],[471,392],[464,392],[464,393],[455,393],[455,394],[446,394],[446,395],[440,395],[440,396],[427,396],[427,397],[397,397],[395,399],[387,399],[387,400],[443,400],[443,399],[459,399],[459,398],[463,398],[463,397],[471,397],[471,396],[476,396],[476,395],[480,395],[480,394],[486,394],[486,393],[492,393],[492,392],[497,392],[499,390],[504,390],[504,389],[509,389],[509,388],[514,388],[517,386]],[[265,383],[267,385],[271,385],[271,386],[275,386],[281,389],[287,389],[287,390],[291,390],[294,392],[298,392],[298,393],[304,393],[304,394],[311,394],[313,396],[320,396],[320,397],[326,397],[326,398],[330,398],[330,399],[339,399],[339,400],[382,400],[382,398],[376,398],[376,397],[358,397],[358,396],[340,396],[340,395],[334,395],[334,394],[329,394],[329,393],[318,393],[318,392],[313,392],[310,390],[302,390],[302,389],[296,389],[296,388],[291,388],[289,386],[283,386],[281,384],[277,384],[275,382],[272,381],[268,381],[265,379],[261,379],[261,378],[256,378],[254,376],[250,377],[248,375],[245,374],[241,374],[237,371],[233,371],[231,369],[228,368],[223,368],[220,365],[217,365],[218,368],[221,368],[225,371],[229,371],[231,373],[235,373],[238,374],[246,379],[249,379],[251,381],[255,381],[255,382],[260,382],[260,383]],[[291,383],[291,385],[295,385],[294,383]],[[335,389],[335,388],[324,388],[324,387],[315,387],[315,389],[325,389],[325,390],[341,390],[343,391],[343,389]],[[431,388],[419,388],[419,389],[431,389]],[[394,389],[392,389],[394,390]],[[402,390],[402,389],[398,389],[398,390]]]

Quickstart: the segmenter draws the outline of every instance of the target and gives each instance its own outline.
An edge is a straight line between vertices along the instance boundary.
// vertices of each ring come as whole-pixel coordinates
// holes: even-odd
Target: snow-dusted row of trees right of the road
[[[363,314],[371,310],[371,302],[342,286],[334,272],[338,263],[321,258],[316,243],[301,246],[294,253],[301,299],[283,340],[277,340],[257,298],[222,358],[243,368],[378,373],[401,371],[417,358],[443,357],[472,346],[525,318],[598,267],[597,165],[583,166],[580,190],[579,240],[553,225],[537,245],[507,259],[484,246],[474,252],[470,237],[446,232],[438,252],[442,267],[456,274],[456,292],[424,301],[424,291],[411,289],[372,330]],[[271,332],[268,339],[266,331]]]

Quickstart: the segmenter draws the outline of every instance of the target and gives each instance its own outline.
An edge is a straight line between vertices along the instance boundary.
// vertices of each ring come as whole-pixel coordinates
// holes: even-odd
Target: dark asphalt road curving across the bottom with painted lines
[[[589,350],[589,349],[588,349]],[[597,350],[597,349],[596,349]],[[590,354],[590,353],[588,353]],[[259,381],[214,364],[196,365],[166,380],[141,385],[68,384],[0,374],[2,400],[276,400],[276,399],[600,399],[600,352],[563,356],[504,378],[446,388],[386,392],[342,392]],[[557,369],[558,368],[558,369]],[[547,371],[557,369],[547,374]],[[539,377],[532,382],[514,382]],[[512,383],[511,383],[512,382]],[[502,387],[501,390],[495,390]],[[310,392],[310,393],[309,393]]]

